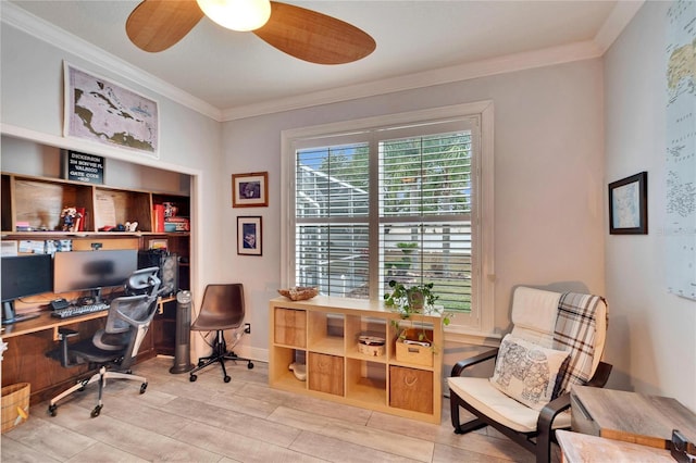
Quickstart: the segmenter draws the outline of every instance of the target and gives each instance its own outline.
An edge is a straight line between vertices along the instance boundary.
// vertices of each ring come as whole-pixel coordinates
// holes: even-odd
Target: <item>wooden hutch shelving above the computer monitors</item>
[[[94,247],[147,250],[151,240],[166,240],[167,250],[178,256],[178,289],[190,289],[190,233],[154,232],[152,212],[154,204],[171,202],[178,208],[179,216],[189,216],[188,196],[13,173],[2,173],[0,183],[2,241],[70,239],[73,250],[85,251]],[[84,230],[62,230],[61,212],[65,207],[84,208]],[[23,222],[32,229],[18,229],[17,223]],[[126,222],[138,222],[137,230],[99,232],[104,225]],[[151,351],[173,354],[175,325],[173,300],[163,304],[162,313],[153,321]]]

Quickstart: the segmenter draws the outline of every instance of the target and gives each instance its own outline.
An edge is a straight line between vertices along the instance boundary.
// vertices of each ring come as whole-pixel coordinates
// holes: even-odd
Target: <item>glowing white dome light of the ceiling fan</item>
[[[215,23],[233,30],[262,27],[271,17],[269,0],[197,0],[200,9]]]

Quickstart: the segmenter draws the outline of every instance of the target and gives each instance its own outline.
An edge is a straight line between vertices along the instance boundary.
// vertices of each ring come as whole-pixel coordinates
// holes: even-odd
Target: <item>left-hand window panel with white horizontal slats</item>
[[[312,148],[296,159],[296,275],[299,286],[350,298],[366,288],[368,165],[364,143]],[[350,158],[350,163],[346,160]],[[366,158],[365,158],[366,160]]]

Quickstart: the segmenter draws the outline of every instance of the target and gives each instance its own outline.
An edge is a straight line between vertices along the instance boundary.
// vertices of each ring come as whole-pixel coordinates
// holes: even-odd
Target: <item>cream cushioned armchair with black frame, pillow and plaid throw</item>
[[[604,387],[611,365],[600,361],[607,335],[607,304],[598,296],[518,287],[513,328],[500,348],[457,363],[448,378],[455,433],[493,426],[537,462],[550,461],[554,430],[570,428],[573,384]],[[495,361],[493,377],[467,376],[468,368]],[[475,415],[460,423],[460,408]]]

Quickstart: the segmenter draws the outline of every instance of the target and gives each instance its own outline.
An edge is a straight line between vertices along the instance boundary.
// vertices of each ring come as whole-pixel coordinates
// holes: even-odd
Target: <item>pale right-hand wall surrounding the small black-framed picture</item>
[[[605,55],[606,180],[648,172],[648,235],[606,240],[610,386],[696,410],[696,301],[667,292],[663,227],[668,2],[646,2]],[[606,193],[605,193],[606,195]]]

